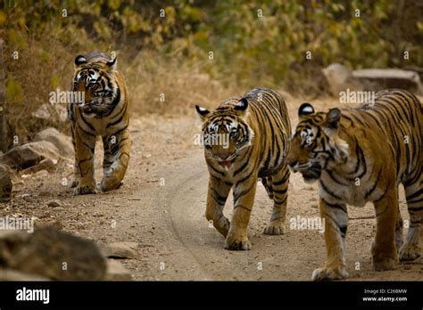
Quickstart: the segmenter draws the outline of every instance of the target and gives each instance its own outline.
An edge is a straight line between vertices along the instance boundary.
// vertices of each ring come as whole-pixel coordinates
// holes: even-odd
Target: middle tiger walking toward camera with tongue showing
[[[228,137],[226,144],[203,143],[209,170],[205,217],[226,238],[225,249],[251,249],[247,226],[259,180],[273,200],[263,233],[285,233],[289,182],[285,157],[291,125],[283,97],[269,88],[255,88],[242,98],[229,98],[212,112],[198,105],[195,110],[203,122],[203,136]],[[223,208],[231,189],[234,213],[229,224]]]

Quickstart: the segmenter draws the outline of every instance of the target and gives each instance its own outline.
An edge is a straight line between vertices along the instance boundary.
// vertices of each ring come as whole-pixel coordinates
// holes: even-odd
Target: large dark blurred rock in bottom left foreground
[[[5,268],[61,281],[100,281],[106,259],[94,241],[52,226],[33,233],[0,231],[0,261]]]

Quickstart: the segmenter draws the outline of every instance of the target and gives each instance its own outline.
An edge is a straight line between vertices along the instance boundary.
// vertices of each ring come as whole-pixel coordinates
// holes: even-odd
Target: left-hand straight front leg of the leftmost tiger
[[[95,193],[94,151],[95,135],[87,135],[75,127],[75,188],[74,195]]]

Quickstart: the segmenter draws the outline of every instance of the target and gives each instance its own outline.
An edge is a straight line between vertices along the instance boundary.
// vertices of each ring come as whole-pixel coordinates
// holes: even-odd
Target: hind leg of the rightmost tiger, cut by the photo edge
[[[401,260],[413,260],[420,256],[420,226],[423,222],[423,187],[419,174],[418,182],[404,185],[405,197],[410,213],[410,224],[407,237],[400,249]]]

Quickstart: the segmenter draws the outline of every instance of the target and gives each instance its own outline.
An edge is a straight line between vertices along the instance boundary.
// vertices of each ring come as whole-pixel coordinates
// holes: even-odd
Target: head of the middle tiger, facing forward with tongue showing
[[[251,145],[253,130],[247,123],[248,101],[230,99],[214,111],[195,105],[203,121],[202,136],[206,159],[217,161],[227,171],[236,157]]]

